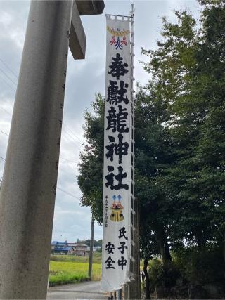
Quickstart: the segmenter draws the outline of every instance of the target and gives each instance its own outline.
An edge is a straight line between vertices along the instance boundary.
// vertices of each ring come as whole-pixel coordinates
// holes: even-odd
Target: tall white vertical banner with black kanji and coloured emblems
[[[129,17],[106,15],[101,289],[129,282],[131,253],[131,44]]]

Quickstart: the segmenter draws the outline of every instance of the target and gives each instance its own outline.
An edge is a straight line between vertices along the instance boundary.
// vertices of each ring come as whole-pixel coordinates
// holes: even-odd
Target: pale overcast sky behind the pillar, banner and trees
[[[23,51],[30,1],[0,0],[0,178],[11,125],[11,114]],[[63,133],[60,150],[58,190],[53,223],[53,240],[73,242],[90,237],[90,209],[79,206],[82,193],[77,185],[77,162],[84,143],[84,110],[90,107],[97,92],[105,90],[105,13],[128,15],[131,1],[105,1],[103,15],[82,17],[86,33],[86,58],[68,60]],[[136,81],[145,84],[148,74],[139,60],[141,46],[153,49],[160,39],[162,16],[175,20],[174,9],[188,9],[198,16],[195,0],[148,0],[135,2]],[[101,226],[95,228],[95,239],[102,238]]]

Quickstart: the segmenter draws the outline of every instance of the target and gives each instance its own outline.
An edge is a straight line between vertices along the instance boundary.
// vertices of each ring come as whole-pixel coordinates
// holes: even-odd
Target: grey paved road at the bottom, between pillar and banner
[[[48,289],[47,299],[108,299],[100,292],[99,281],[77,283],[76,285],[58,285]]]

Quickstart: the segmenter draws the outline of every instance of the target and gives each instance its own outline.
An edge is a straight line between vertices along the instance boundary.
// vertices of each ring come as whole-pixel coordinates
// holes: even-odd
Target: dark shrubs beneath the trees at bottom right
[[[150,261],[150,287],[170,288],[181,284],[207,285],[224,282],[224,259],[221,247],[209,244],[200,249],[188,247],[174,252],[173,261],[162,263],[160,259]]]

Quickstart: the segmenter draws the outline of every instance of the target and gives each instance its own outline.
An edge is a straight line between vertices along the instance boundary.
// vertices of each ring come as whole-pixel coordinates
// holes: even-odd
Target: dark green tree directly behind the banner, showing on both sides
[[[95,219],[102,222],[103,207],[103,97],[98,95],[92,103],[94,115],[85,113],[84,132],[88,145],[81,154],[78,183],[83,197],[82,205],[91,207]],[[153,103],[153,98],[139,89],[136,96],[136,197],[141,205],[141,241],[143,255],[149,244],[154,244],[152,254],[161,254],[171,259],[167,242],[168,216],[172,204],[168,203],[163,185],[163,176],[173,161],[169,148],[169,131],[162,126],[167,120],[167,111],[162,102]],[[169,199],[170,201],[170,199]],[[169,202],[168,201],[168,202]],[[144,228],[150,228],[146,233]],[[152,239],[149,233],[154,232]]]

